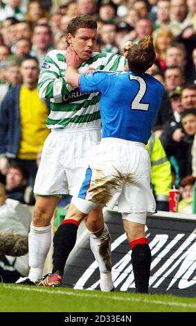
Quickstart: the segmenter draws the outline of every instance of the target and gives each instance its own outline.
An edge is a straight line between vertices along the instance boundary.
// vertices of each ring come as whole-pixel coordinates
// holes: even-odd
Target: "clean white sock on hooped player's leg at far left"
[[[31,281],[37,282],[42,278],[44,263],[51,247],[51,224],[37,228],[30,224],[28,234],[28,252],[30,272],[28,277]]]

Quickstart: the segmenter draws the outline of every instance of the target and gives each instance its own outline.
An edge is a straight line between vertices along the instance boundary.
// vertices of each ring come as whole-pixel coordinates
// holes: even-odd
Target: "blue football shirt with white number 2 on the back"
[[[163,85],[149,74],[89,71],[79,79],[82,92],[100,92],[102,137],[147,144],[157,116]]]

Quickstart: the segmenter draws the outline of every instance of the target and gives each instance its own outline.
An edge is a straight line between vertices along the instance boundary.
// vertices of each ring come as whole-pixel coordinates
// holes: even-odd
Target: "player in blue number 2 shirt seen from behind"
[[[81,92],[100,92],[103,126],[101,142],[91,151],[86,177],[78,197],[71,200],[66,218],[80,223],[96,205],[113,209],[117,202],[132,248],[136,291],[148,293],[151,252],[145,238],[145,221],[147,213],[154,214],[156,204],[145,144],[161,103],[163,85],[145,74],[155,59],[150,36],[133,44],[127,59],[130,71],[80,75],[78,55],[71,50],[66,53],[66,82],[79,85]]]

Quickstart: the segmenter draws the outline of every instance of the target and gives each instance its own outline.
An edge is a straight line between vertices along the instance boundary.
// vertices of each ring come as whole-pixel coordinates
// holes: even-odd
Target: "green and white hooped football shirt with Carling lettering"
[[[51,113],[46,125],[50,129],[100,127],[100,95],[84,94],[78,87],[66,84],[65,52],[50,51],[39,75],[39,96],[50,98],[51,101]],[[78,71],[82,73],[88,67],[107,71],[124,70],[125,64],[126,59],[122,55],[95,52],[89,60],[82,63]]]

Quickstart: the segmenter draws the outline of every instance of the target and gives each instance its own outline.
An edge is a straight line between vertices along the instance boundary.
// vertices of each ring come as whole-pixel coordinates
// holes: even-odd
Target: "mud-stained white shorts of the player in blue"
[[[103,138],[91,152],[79,199],[72,201],[86,214],[93,208],[93,203],[101,203],[110,209],[118,203],[121,213],[154,214],[156,203],[150,176],[150,157],[144,144]]]

